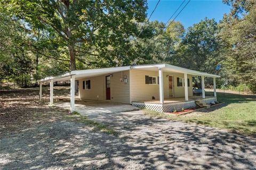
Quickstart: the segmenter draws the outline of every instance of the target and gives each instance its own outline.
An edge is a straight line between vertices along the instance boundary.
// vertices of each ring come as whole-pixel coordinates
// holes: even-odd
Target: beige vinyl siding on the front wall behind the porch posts
[[[131,70],[131,99],[132,101],[151,100],[152,96],[159,99],[159,85],[146,84],[145,75],[158,77],[157,71],[145,71],[139,69]],[[185,88],[177,87],[177,77],[184,78],[182,73],[163,72],[163,90],[164,98],[170,98],[169,78],[167,75],[173,76],[173,97],[185,97]],[[188,87],[188,95],[193,96],[192,75],[188,74],[190,86]]]

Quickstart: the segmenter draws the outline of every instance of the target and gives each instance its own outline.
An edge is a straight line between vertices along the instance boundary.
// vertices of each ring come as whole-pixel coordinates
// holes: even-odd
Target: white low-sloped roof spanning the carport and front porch
[[[212,78],[219,78],[219,75],[215,74],[209,74],[205,72],[199,72],[195,70],[189,70],[185,69],[183,67],[178,67],[170,64],[148,64],[148,65],[134,65],[134,66],[122,66],[122,67],[111,67],[111,68],[104,68],[104,69],[88,69],[88,70],[75,70],[75,71],[70,71],[66,72],[60,75],[56,76],[50,76],[46,77],[44,79],[41,79],[39,81],[44,82],[44,81],[67,81],[70,80],[71,75],[75,75],[75,79],[81,79],[81,78],[86,78],[86,77],[95,77],[99,75],[105,75],[105,74],[111,74],[114,72],[119,72],[119,71],[126,71],[126,70],[131,70],[131,69],[141,69],[141,70],[148,70],[148,71],[157,71],[159,68],[163,69],[164,72],[176,72],[176,73],[187,73],[187,74],[192,74],[192,75],[203,75],[205,77],[212,77]]]

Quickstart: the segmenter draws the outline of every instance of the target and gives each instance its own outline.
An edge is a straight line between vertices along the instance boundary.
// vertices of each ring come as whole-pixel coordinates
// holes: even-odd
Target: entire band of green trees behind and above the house
[[[26,87],[70,70],[169,63],[256,92],[255,0],[223,3],[231,11],[219,23],[205,18],[185,29],[148,21],[146,0],[1,1],[1,81]]]

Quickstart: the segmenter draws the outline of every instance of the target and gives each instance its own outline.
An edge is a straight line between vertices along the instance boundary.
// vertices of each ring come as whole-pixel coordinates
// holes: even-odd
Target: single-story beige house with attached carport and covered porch
[[[39,98],[42,100],[42,82],[50,82],[50,104],[53,104],[53,82],[70,80],[70,111],[75,111],[75,80],[81,100],[99,100],[146,107],[159,112],[195,107],[192,78],[202,78],[202,100],[217,100],[215,78],[219,75],[189,70],[170,64],[149,64],[111,67],[105,69],[75,70],[40,80]],[[214,95],[206,97],[204,78],[213,78]]]

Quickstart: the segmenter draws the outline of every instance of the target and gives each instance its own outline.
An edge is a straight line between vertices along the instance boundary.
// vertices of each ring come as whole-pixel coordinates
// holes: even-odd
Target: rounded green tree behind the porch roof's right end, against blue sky
[[[220,49],[217,22],[205,18],[188,28],[176,57],[183,67],[215,73],[215,66],[221,61]]]

